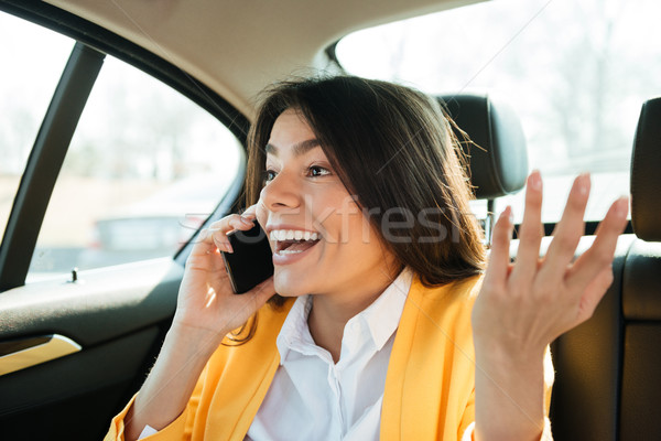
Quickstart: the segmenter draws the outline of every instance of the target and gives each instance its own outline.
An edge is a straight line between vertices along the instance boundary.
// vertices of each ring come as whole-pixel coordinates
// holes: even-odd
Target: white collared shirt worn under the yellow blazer
[[[310,334],[312,297],[296,299],[278,335],[280,366],[246,440],[378,440],[388,361],[411,280],[403,270],[347,322],[337,364]]]

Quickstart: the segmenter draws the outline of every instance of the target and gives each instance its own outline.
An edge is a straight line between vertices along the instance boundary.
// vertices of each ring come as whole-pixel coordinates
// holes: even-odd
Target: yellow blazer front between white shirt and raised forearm
[[[413,280],[388,366],[381,440],[456,439],[473,411],[469,281],[425,288]]]

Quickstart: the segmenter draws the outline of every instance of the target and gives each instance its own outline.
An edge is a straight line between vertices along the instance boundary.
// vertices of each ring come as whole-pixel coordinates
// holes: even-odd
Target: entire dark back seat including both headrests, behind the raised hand
[[[520,190],[528,172],[516,115],[487,96],[440,98],[474,144],[469,158],[478,198]],[[458,133],[462,140],[460,133]],[[552,344],[556,441],[661,440],[661,98],[643,105],[633,142],[631,219],[618,240],[614,282],[593,318]],[[492,205],[490,205],[492,207]],[[577,255],[594,236],[581,240]],[[542,255],[551,241],[544,238]],[[512,245],[516,255],[517,241]]]

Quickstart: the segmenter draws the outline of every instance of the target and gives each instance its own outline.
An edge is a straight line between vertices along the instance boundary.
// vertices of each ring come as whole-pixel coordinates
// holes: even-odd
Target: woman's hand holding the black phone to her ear
[[[201,332],[217,346],[223,336],[241,326],[274,294],[273,278],[236,295],[220,251],[232,252],[227,234],[249,230],[254,225],[254,206],[242,215],[232,214],[199,234],[186,261],[173,327]]]

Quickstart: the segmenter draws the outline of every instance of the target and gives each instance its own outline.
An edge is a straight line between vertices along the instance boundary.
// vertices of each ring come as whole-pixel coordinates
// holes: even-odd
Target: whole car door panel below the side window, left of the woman
[[[126,405],[153,363],[182,275],[180,263],[164,258],[83,271],[76,282],[63,277],[2,293],[0,345],[61,334],[82,346],[0,376],[2,438],[101,437],[109,416]]]

